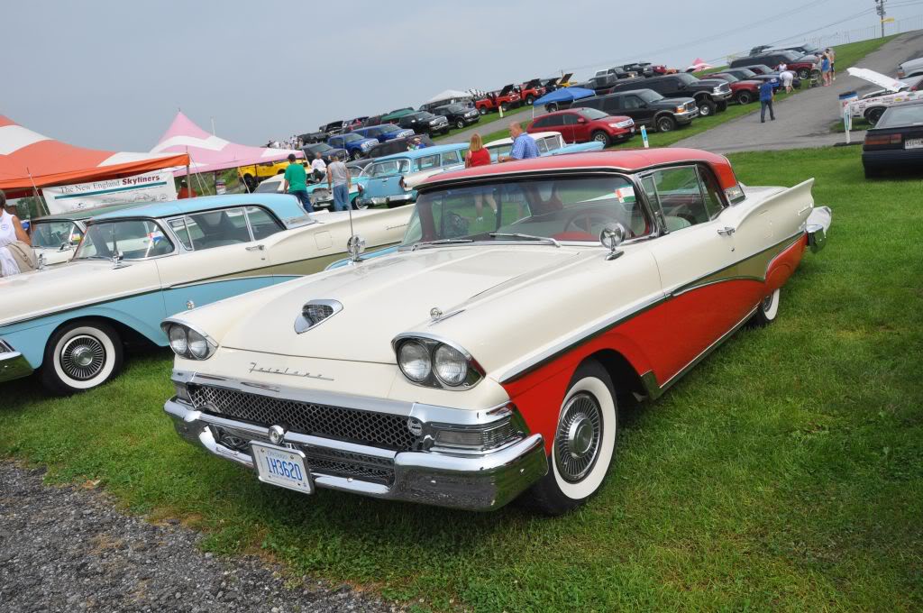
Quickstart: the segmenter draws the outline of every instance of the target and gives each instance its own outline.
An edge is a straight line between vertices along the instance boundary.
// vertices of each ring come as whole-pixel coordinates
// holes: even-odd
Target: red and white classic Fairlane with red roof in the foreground
[[[603,484],[619,397],[776,319],[830,224],[812,184],[741,186],[683,149],[438,174],[396,251],[165,320],[166,413],[305,493],[569,511]]]

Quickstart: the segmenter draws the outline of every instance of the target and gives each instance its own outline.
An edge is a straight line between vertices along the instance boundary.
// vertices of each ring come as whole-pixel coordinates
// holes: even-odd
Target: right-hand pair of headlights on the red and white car
[[[484,371],[461,347],[429,337],[399,336],[393,342],[398,367],[416,385],[465,390],[484,377]]]

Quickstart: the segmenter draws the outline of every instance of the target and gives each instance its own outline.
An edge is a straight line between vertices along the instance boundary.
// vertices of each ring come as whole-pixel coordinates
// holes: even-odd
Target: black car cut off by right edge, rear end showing
[[[923,168],[923,102],[902,102],[885,109],[866,132],[862,145],[866,178],[891,169]]]

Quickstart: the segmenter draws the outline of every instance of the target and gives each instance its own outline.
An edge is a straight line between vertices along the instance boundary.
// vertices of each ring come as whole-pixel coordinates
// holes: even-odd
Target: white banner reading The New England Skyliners
[[[159,170],[121,179],[104,179],[70,186],[42,187],[48,210],[66,213],[122,202],[163,202],[176,199],[173,173]]]

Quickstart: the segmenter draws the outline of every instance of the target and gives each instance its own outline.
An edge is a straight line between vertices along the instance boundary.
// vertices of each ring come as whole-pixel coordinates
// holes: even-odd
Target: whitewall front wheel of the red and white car
[[[616,451],[618,420],[612,379],[598,362],[584,362],[561,402],[548,473],[523,502],[548,515],[585,503],[603,485]]]

